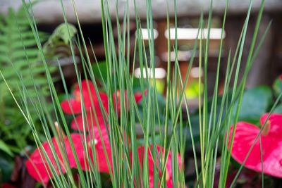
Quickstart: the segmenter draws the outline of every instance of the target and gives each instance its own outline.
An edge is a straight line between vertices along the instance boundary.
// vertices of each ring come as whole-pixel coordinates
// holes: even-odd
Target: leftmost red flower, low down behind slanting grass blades
[[[78,161],[80,162],[80,165],[83,166],[85,164],[85,151],[82,145],[84,144],[82,143],[82,136],[80,134],[71,134],[71,140],[75,148],[75,153],[78,156]],[[68,137],[64,137],[61,143],[64,143],[64,146],[62,145],[62,149],[66,149],[66,158],[68,158],[68,163],[70,167],[76,168],[77,165],[75,163],[75,158],[71,149],[71,143],[69,142]],[[51,139],[51,144],[54,145],[54,155],[59,158],[59,165],[61,167],[62,173],[66,173],[66,163],[63,163],[63,156],[61,155],[57,140],[55,138]],[[42,144],[42,147],[44,148],[44,151],[46,152],[51,165],[54,167],[54,170],[56,170],[56,173],[60,174],[59,167],[58,165],[56,165],[57,163],[52,154],[51,149],[53,148],[49,146],[48,142],[44,142]],[[30,156],[29,160],[25,163],[25,166],[27,168],[27,172],[31,175],[31,177],[33,177],[38,182],[47,184],[47,182],[49,182],[50,177],[52,177],[52,174],[51,169],[48,165],[48,160],[44,156],[44,151],[42,151],[41,149],[35,149],[35,151]],[[62,152],[64,153],[64,151]]]

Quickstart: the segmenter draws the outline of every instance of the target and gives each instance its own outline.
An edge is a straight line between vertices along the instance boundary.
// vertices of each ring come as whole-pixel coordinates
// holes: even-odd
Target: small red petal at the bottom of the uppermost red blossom
[[[75,122],[76,120],[76,122]],[[83,131],[83,120],[82,120],[82,115],[78,115],[75,117],[75,120],[71,122],[71,128],[73,130],[81,130]],[[88,131],[88,128],[92,129],[93,127],[97,127],[97,123],[99,125],[104,125],[104,119],[103,116],[97,116],[97,121],[94,118],[94,114],[91,115],[91,113],[86,114],[86,119],[85,119],[85,130]],[[93,125],[92,125],[93,123]]]

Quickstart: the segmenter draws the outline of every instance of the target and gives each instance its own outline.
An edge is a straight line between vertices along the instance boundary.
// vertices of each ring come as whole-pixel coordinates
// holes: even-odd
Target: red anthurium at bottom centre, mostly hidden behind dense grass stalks
[[[151,146],[151,149],[152,149],[152,146]],[[142,161],[144,161],[145,146],[138,147],[137,152],[138,152],[139,160],[142,166]],[[159,157],[160,156],[164,157],[164,149],[161,148],[161,146],[157,146],[157,152],[158,152]],[[154,159],[151,153],[149,153],[149,149],[148,149],[149,187],[152,187],[152,188],[154,187],[154,162],[157,163],[157,168],[159,169],[159,177],[161,177],[161,166],[159,166],[158,158],[156,156],[156,158]],[[180,153],[178,153],[178,165],[179,165],[179,168],[183,166],[182,160],[180,158]],[[166,187],[168,188],[173,187],[171,151],[169,151],[168,153],[168,161],[166,163]]]

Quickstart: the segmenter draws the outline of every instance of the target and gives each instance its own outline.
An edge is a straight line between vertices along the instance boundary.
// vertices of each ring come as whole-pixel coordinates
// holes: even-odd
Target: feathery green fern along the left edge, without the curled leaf
[[[30,8],[32,4],[28,4],[27,7]],[[30,117],[35,117],[35,127],[41,134],[42,124],[35,111],[35,108],[39,106],[37,94],[44,99],[45,96],[46,98],[50,96],[50,92],[44,65],[38,63],[37,42],[44,42],[47,35],[39,32],[40,39],[35,38],[23,6],[17,11],[10,9],[5,15],[0,13],[0,18],[0,70],[19,105],[24,107],[23,111],[26,113],[28,109]],[[54,71],[50,69],[50,73]],[[35,92],[35,86],[37,92]],[[26,90],[23,89],[24,87]],[[26,104],[23,103],[25,97],[27,97]],[[43,102],[45,101],[42,100]],[[25,122],[23,114],[9,94],[2,77],[0,78],[0,106],[0,152],[13,156],[13,153],[19,152],[18,149],[30,143],[33,137],[30,137],[30,126]]]

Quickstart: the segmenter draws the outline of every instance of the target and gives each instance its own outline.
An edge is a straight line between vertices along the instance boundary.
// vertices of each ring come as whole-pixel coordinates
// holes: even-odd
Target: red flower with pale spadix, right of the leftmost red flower
[[[99,128],[101,132],[99,132]],[[87,137],[88,151],[90,158],[92,160],[92,164],[93,165],[98,164],[98,171],[102,173],[109,173],[110,171],[109,171],[106,156],[109,159],[109,164],[111,168],[113,168],[113,163],[111,160],[111,144],[107,134],[107,127],[105,125],[100,125],[99,128],[94,127],[94,129],[90,132],[90,134]],[[102,137],[100,137],[100,133]],[[104,142],[104,145],[102,141]],[[103,146],[105,147],[106,153],[104,152]],[[96,155],[95,161],[94,161],[94,149]],[[87,170],[89,170],[89,166],[87,166]]]

